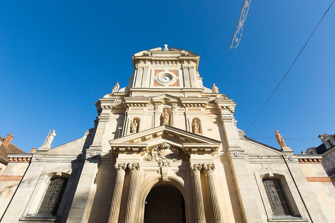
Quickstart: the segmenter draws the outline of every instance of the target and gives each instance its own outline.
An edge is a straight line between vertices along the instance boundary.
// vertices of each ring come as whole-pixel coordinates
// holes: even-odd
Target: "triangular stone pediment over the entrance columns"
[[[172,126],[159,126],[109,141],[116,153],[148,151],[162,142],[181,148],[184,153],[213,153],[221,142]]]

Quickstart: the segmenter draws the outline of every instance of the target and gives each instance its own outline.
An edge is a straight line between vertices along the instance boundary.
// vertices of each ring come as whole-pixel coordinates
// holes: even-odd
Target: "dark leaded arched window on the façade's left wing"
[[[44,194],[38,215],[55,215],[66,187],[67,178],[51,178],[48,188]]]

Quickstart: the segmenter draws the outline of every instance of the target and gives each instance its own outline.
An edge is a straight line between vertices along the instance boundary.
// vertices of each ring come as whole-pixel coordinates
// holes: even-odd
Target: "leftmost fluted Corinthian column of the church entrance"
[[[126,163],[117,163],[115,165],[116,181],[113,193],[111,213],[109,216],[108,223],[118,223],[119,220],[121,196],[123,191],[123,182],[125,179],[126,167],[127,167]]]

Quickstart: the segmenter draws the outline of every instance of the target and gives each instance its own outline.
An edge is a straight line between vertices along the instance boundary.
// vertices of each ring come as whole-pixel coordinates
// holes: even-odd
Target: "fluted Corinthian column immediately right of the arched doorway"
[[[190,169],[192,175],[195,222],[205,223],[206,219],[205,219],[204,200],[202,198],[201,181],[200,181],[201,164],[200,163],[191,164]]]

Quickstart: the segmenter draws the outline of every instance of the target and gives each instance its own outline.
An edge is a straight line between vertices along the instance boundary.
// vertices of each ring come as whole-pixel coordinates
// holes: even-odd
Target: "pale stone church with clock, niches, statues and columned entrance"
[[[199,58],[136,53],[129,85],[95,102],[82,138],[50,149],[53,131],[35,154],[9,154],[3,174],[22,180],[0,196],[1,223],[335,222],[321,155],[246,137],[236,103],[203,86]]]

